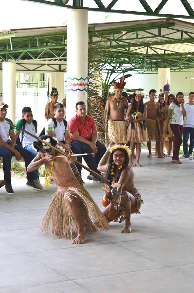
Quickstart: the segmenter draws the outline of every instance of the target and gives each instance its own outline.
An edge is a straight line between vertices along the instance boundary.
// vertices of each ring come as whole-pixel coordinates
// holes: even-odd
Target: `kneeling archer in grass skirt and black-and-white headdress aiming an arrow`
[[[58,145],[56,138],[49,135],[40,138],[65,151]],[[76,174],[73,172],[71,164],[74,163],[76,157],[71,157],[71,154],[68,154],[68,157],[57,157],[60,153],[39,140],[34,142],[33,146],[38,154],[29,164],[28,170],[36,170],[45,164],[49,172],[49,178],[46,179],[47,186],[51,175],[58,186],[43,218],[42,232],[48,233],[52,230],[52,233],[60,238],[72,239],[74,230],[77,237],[72,244],[81,244],[86,240],[86,229],[109,230],[106,218],[82,186],[78,171]]]

